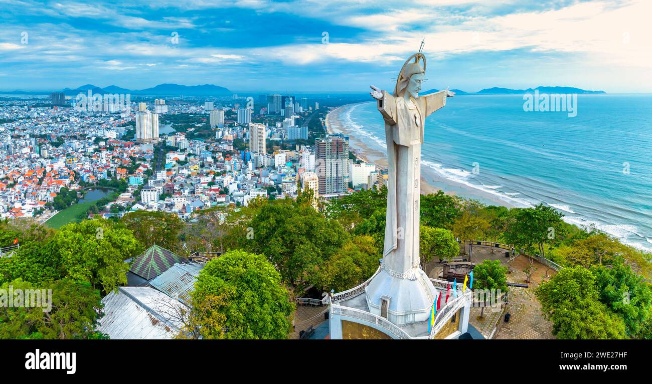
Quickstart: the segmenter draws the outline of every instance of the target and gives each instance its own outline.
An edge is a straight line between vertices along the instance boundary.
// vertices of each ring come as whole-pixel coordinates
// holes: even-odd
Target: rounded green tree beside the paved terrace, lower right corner
[[[626,338],[625,323],[600,303],[595,276],[583,267],[564,268],[536,291],[552,333],[564,339]]]

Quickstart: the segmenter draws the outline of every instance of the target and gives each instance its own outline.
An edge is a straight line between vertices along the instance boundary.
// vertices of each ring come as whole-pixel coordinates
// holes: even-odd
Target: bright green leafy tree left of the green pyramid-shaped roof
[[[64,276],[90,282],[107,293],[126,284],[125,260],[143,250],[132,231],[101,218],[61,227],[47,248],[59,257]]]

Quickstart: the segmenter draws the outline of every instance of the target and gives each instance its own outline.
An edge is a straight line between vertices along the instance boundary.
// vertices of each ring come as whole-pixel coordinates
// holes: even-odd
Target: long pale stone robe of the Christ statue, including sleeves
[[[421,197],[421,145],[425,119],[446,105],[446,92],[414,99],[410,108],[403,97],[383,91],[378,110],[385,119],[387,140],[387,221],[385,269],[395,276],[413,278],[419,267],[419,211]]]

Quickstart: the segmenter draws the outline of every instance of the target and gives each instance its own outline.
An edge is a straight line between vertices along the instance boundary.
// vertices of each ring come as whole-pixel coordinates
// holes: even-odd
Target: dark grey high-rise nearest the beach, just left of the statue
[[[315,140],[319,194],[346,191],[349,185],[349,141],[338,135]]]

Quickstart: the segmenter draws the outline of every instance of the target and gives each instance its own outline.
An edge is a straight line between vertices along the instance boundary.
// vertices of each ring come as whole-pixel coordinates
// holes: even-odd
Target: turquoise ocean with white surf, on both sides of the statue
[[[422,175],[485,203],[545,203],[652,252],[652,95],[578,95],[576,111],[524,111],[522,95],[449,98],[426,119]],[[385,152],[375,102],[339,120],[352,146]]]

